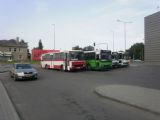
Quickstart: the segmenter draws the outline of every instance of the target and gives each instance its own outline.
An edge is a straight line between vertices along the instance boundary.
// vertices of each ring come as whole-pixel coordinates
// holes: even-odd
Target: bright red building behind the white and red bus
[[[32,60],[40,61],[41,55],[44,53],[49,53],[49,52],[59,52],[59,50],[41,50],[38,48],[34,48],[32,49]]]

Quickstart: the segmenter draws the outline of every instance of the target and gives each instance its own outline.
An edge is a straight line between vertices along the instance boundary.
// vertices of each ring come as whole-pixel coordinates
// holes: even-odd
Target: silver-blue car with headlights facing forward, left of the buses
[[[28,63],[14,63],[11,70],[10,76],[14,80],[23,80],[23,79],[37,79],[37,70],[34,69],[31,64]]]

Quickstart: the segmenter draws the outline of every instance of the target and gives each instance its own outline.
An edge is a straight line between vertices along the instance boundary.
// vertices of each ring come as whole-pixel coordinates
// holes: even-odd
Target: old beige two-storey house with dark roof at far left
[[[19,61],[28,59],[28,44],[19,38],[0,40],[0,60]]]

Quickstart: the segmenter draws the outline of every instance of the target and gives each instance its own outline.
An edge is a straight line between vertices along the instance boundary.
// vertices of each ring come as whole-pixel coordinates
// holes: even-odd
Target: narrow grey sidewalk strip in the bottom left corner
[[[0,120],[20,120],[0,80]]]

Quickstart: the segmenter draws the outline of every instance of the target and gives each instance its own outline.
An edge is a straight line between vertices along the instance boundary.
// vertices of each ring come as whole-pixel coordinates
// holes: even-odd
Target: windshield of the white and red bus
[[[69,56],[71,60],[84,60],[84,53],[83,52],[69,52]]]

